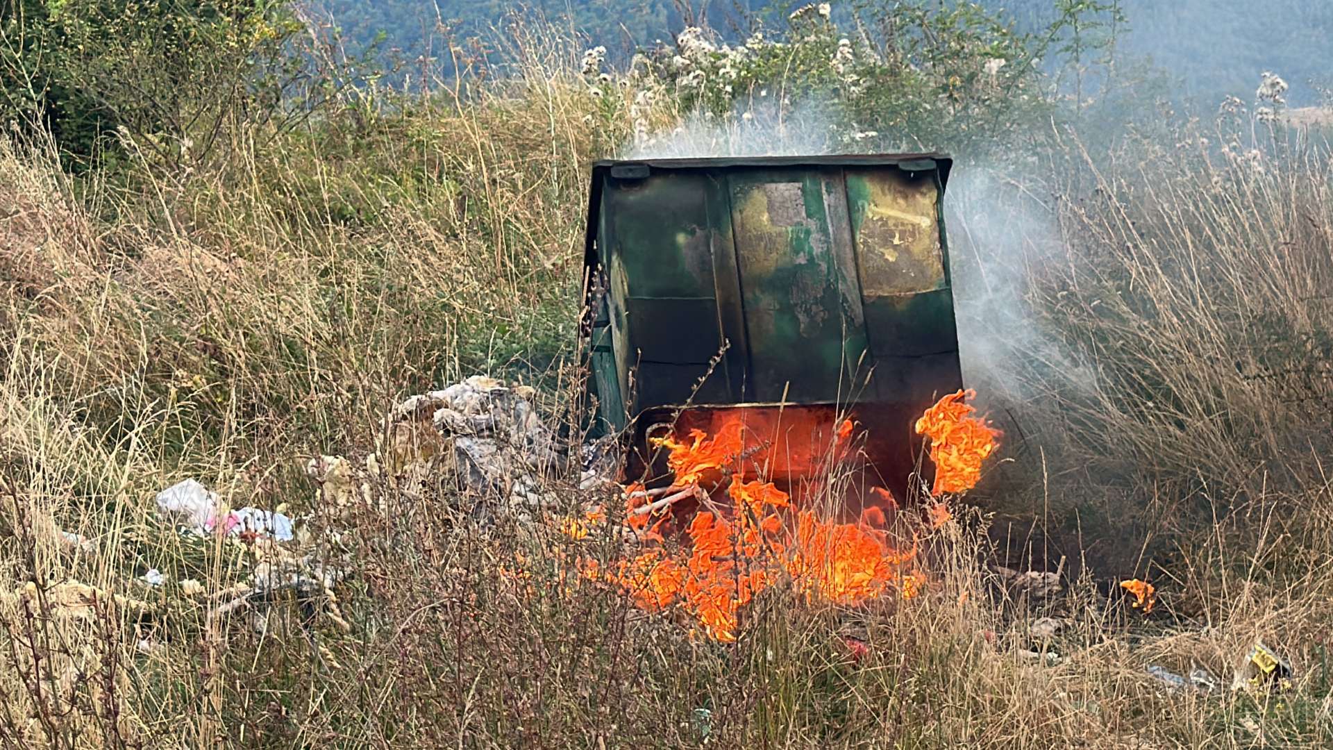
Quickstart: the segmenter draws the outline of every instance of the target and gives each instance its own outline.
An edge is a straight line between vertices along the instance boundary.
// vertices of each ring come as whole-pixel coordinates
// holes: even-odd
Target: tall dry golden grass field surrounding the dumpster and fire
[[[632,127],[632,91],[611,99],[535,65],[473,101],[347,124],[341,143],[237,136],[227,169],[131,185],[76,185],[43,149],[3,147],[0,738],[1333,743],[1333,196],[1328,161],[1281,143],[1256,143],[1258,163],[1068,143],[1037,172],[1077,179],[1014,191],[1054,227],[1008,227],[1013,263],[985,268],[992,292],[1020,292],[997,387],[1026,427],[1010,458],[1034,471],[1010,474],[1036,480],[977,502],[1036,515],[1049,565],[1062,551],[1078,573],[1056,597],[998,583],[988,531],[1004,535],[976,512],[929,539],[921,598],[842,609],[774,587],[720,645],[561,586],[552,550],[569,542],[504,516],[477,528],[449,487],[408,495],[381,475],[372,502],[333,512],[307,459],[363,460],[407,394],[489,368],[572,419],[585,167]],[[960,200],[965,223],[980,215]],[[980,256],[962,238],[980,250],[1000,228],[956,228],[960,268]],[[296,595],[263,633],[240,610],[209,617],[273,559],[165,528],[152,498],[185,476],[231,506],[313,514],[303,550],[355,567],[341,618]],[[1077,566],[1084,551],[1108,567]],[[497,573],[516,554],[527,582]],[[1105,585],[1134,565],[1164,591],[1149,618]],[[136,583],[148,567],[167,585]],[[1028,631],[1044,614],[1069,622],[1050,643]],[[870,655],[852,663],[845,634]],[[1256,637],[1292,661],[1290,691],[1173,693],[1144,671],[1200,663],[1225,686]],[[1033,647],[1061,661],[1020,655]]]

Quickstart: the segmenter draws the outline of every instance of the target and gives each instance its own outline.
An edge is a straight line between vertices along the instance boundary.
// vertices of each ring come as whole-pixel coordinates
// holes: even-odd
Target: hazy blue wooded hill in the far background
[[[921,4],[937,4],[924,0]],[[1042,28],[1061,7],[1080,0],[980,0],[1002,9],[1018,29]],[[1145,59],[1165,72],[1180,97],[1213,103],[1226,95],[1249,99],[1257,76],[1273,71],[1292,84],[1293,105],[1317,103],[1330,73],[1318,64],[1333,39],[1333,3],[1326,0],[1124,0],[1128,24],[1118,39],[1121,52]],[[423,51],[441,55],[437,24],[455,39],[479,37],[493,49],[503,43],[496,29],[508,13],[560,19],[605,45],[613,60],[625,60],[636,47],[669,39],[685,24],[709,25],[724,36],[786,13],[800,3],[778,0],[321,0],[311,7],[332,17],[347,39],[365,44],[384,32],[383,45],[407,59]],[[864,1],[832,3],[834,16]],[[432,44],[432,40],[435,44]],[[1314,85],[1312,85],[1314,84]]]

